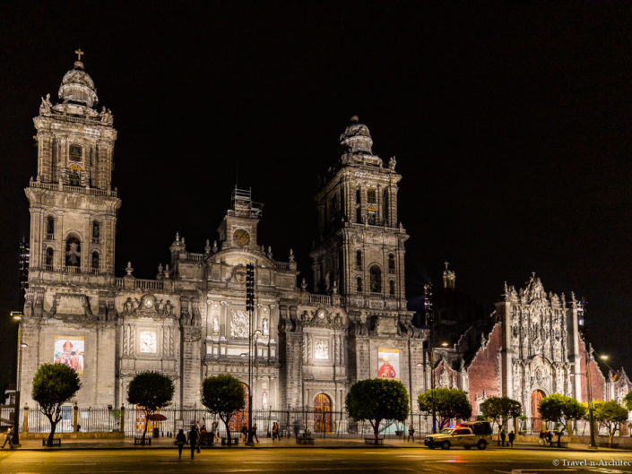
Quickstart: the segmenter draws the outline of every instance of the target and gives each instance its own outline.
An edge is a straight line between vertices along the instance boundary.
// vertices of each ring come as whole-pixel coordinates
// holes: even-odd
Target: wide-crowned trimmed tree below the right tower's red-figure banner
[[[373,427],[376,444],[382,420],[403,422],[410,411],[406,387],[399,380],[384,378],[359,380],[351,385],[344,406],[355,421],[368,420]]]

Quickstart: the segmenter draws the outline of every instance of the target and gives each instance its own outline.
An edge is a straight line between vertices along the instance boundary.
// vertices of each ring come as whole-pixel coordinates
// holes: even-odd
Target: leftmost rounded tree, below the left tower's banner
[[[80,388],[79,375],[65,364],[43,364],[35,373],[30,396],[39,403],[39,410],[50,421],[48,446],[53,445],[57,423],[62,419],[62,405]]]

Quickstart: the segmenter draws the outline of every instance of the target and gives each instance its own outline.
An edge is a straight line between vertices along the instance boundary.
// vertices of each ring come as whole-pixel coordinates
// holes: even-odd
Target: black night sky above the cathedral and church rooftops
[[[0,5],[0,371],[13,371],[32,117],[82,47],[118,130],[117,275],[153,278],[177,230],[215,238],[235,185],[260,244],[315,235],[316,176],[350,116],[397,157],[407,297],[438,280],[487,312],[532,271],[588,301],[589,337],[632,356],[632,4],[260,2]],[[629,366],[629,365],[628,365]],[[628,370],[628,372],[630,372]]]

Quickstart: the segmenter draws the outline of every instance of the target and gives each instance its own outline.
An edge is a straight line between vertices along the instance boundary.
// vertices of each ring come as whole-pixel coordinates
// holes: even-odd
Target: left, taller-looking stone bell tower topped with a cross
[[[111,188],[117,131],[112,112],[96,110],[97,89],[81,61],[65,73],[59,101],[41,99],[38,174],[25,192],[30,202],[30,278],[55,274],[114,276],[120,200]],[[36,272],[36,275],[33,273]],[[74,278],[74,277],[69,277]]]

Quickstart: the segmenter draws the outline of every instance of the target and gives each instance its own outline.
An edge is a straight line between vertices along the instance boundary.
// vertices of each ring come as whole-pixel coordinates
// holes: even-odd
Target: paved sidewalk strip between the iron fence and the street
[[[281,442],[272,441],[271,438],[260,438],[260,443],[255,444],[255,449],[275,449],[275,448],[310,448],[316,447],[321,449],[405,449],[405,448],[421,448],[428,449],[424,446],[423,442],[415,441],[406,442],[397,438],[389,438],[385,439],[385,444],[380,446],[375,446],[371,444],[365,444],[363,438],[322,438],[316,437],[314,440],[314,444],[305,445],[305,444],[297,444],[294,438],[283,439]],[[62,440],[61,446],[56,446],[52,448],[48,448],[46,446],[42,446],[41,439],[21,439],[21,447],[17,448],[22,451],[65,451],[65,450],[151,450],[151,449],[176,449],[176,445],[174,444],[174,438],[157,438],[152,439],[152,445],[134,445],[134,438],[125,438],[123,440],[110,440],[110,439],[65,439]],[[212,446],[203,446],[203,450],[207,449],[251,449],[248,446],[243,444],[238,444],[237,446],[222,446],[220,443],[213,444]],[[458,450],[460,448],[453,448]],[[556,446],[542,446],[538,444],[527,444],[527,443],[514,443],[514,447],[506,447],[506,446],[498,446],[496,441],[493,444],[489,444],[488,449],[497,451],[497,450],[538,450],[538,451],[584,451],[584,452],[594,452],[594,449],[589,448],[585,444],[568,444],[566,448],[558,448]],[[4,448],[4,451],[7,451],[7,448]],[[437,450],[439,451],[439,450]],[[600,447],[597,451],[599,452],[630,452],[630,450],[626,449],[610,449],[605,447]]]

